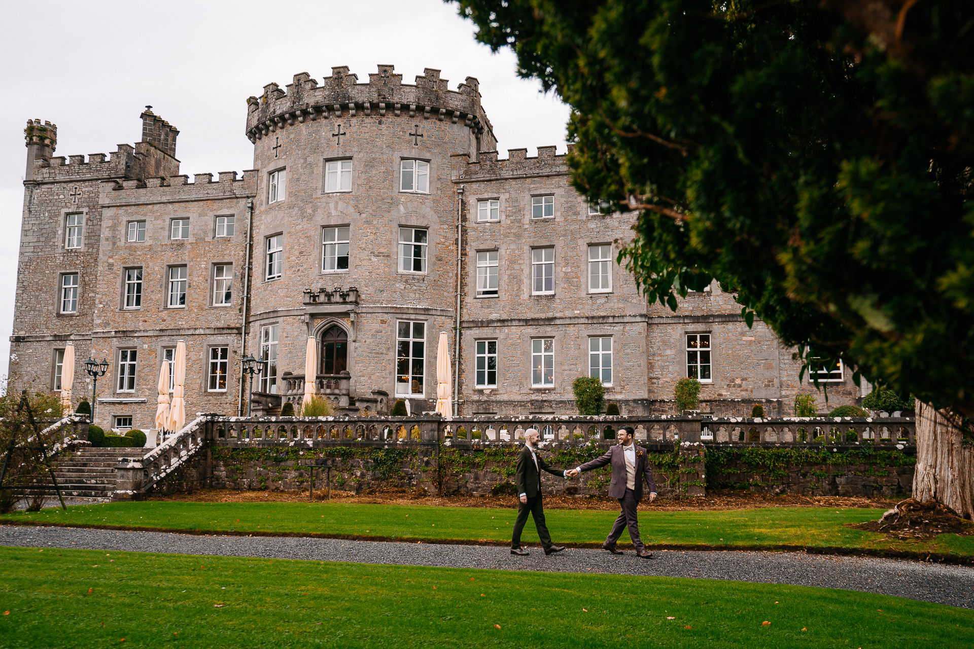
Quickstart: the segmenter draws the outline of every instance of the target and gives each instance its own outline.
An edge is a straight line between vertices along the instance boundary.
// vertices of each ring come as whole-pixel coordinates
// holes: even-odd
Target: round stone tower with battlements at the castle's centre
[[[335,67],[320,86],[300,73],[247,100],[259,171],[247,347],[272,361],[265,412],[300,403],[309,337],[316,391],[340,408],[433,408],[439,332],[454,342],[455,166],[496,139],[476,79],[448,90],[428,68],[401,82],[392,65],[367,84]]]

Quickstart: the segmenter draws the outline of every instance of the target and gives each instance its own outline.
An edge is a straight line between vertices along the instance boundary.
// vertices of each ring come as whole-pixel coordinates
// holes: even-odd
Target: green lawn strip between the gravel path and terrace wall
[[[879,509],[766,508],[731,511],[640,512],[643,540],[650,546],[843,547],[896,549],[974,556],[974,536],[942,534],[932,542],[883,540],[884,535],[844,526],[880,517]],[[616,512],[548,510],[547,523],[559,544],[599,544]],[[67,512],[46,509],[15,513],[4,522],[51,522],[99,526],[158,527],[262,533],[320,533],[429,541],[505,542],[513,509],[350,505],[340,503],[117,502],[77,505]],[[538,543],[529,521],[523,540]],[[628,536],[623,535],[623,541]]]

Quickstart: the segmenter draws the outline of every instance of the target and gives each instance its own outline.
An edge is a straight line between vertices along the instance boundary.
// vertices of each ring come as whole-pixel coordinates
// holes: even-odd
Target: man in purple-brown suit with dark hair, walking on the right
[[[600,466],[612,463],[612,482],[609,483],[609,495],[618,498],[618,504],[622,507],[621,513],[612,526],[608,538],[602,547],[614,555],[621,555],[622,551],[616,547],[618,537],[622,535],[622,530],[629,528],[629,538],[632,545],[636,548],[636,556],[649,559],[653,556],[652,552],[643,545],[643,540],[639,537],[639,520],[636,518],[636,510],[639,501],[643,499],[643,482],[650,489],[650,502],[656,500],[656,481],[653,478],[653,466],[649,463],[649,452],[642,447],[633,444],[633,429],[630,426],[622,426],[618,429],[618,444],[611,447],[601,457],[585,462],[580,467],[567,473],[569,477],[575,477],[582,471],[591,471]]]

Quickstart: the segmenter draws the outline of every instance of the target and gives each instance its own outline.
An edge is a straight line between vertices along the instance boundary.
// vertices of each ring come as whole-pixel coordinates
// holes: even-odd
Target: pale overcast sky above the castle
[[[245,99],[297,72],[318,81],[348,65],[359,81],[379,63],[412,84],[441,70],[455,90],[480,81],[483,106],[506,149],[557,145],[565,152],[568,108],[518,79],[509,51],[491,54],[455,5],[292,0],[286,3],[45,2],[4,5],[0,28],[0,374],[14,321],[28,119],[57,125],[56,156],[111,153],[140,137],[146,104],[179,129],[181,173],[243,171]],[[48,296],[46,299],[50,300]]]

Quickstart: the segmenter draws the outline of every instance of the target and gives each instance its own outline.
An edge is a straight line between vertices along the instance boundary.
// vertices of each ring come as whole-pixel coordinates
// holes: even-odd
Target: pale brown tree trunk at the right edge
[[[913,496],[974,517],[974,445],[964,444],[958,417],[917,402],[917,470]]]

